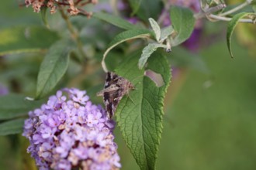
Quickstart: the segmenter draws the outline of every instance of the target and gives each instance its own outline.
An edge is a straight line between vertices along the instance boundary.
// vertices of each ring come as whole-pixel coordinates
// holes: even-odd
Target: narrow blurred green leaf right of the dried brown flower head
[[[115,15],[110,15],[105,12],[95,12],[92,16],[96,19],[102,19],[103,21],[109,22],[121,29],[138,29],[137,26],[127,22],[125,19],[119,18]]]

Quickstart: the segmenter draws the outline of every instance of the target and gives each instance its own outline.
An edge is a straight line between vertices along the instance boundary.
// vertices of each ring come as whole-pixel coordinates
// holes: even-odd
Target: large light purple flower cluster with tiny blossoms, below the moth
[[[65,96],[63,93],[67,93]],[[30,111],[23,136],[40,170],[119,169],[114,123],[85,91],[64,89]]]

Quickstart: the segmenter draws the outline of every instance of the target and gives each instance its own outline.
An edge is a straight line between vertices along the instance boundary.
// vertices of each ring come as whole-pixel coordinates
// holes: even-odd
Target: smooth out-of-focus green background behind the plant
[[[41,22],[40,15],[31,8],[17,8],[16,1],[1,4],[0,28]],[[256,60],[236,42],[234,59],[223,37],[199,53],[209,73],[185,69],[182,79],[174,77],[171,88],[181,80],[182,87],[177,94],[168,93],[175,97],[165,104],[157,169],[256,169]],[[0,137],[1,170],[22,169],[26,151],[15,143],[18,138]],[[118,129],[116,142],[122,169],[139,169]]]

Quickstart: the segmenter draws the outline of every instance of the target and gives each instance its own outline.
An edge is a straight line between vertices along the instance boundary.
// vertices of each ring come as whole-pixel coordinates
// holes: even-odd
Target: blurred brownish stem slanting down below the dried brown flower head
[[[79,39],[78,37],[78,32],[75,31],[70,19],[68,18],[68,16],[65,14],[63,8],[60,8],[60,12],[61,12],[61,17],[64,19],[64,21],[66,22],[67,24],[67,29],[69,30],[69,32],[71,32],[71,37],[72,39],[74,39],[74,42],[77,43],[78,45],[78,50],[79,52],[81,53],[81,55],[83,56],[83,58],[86,60],[87,59],[87,56],[84,52],[84,49],[83,49],[83,46],[82,46],[82,43],[81,43],[81,40]]]

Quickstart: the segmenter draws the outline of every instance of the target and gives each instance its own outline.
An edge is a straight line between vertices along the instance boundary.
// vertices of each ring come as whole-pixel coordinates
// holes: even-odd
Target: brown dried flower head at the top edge
[[[82,9],[83,6],[88,4],[95,5],[98,3],[97,0],[25,0],[26,7],[32,5],[34,12],[40,12],[41,8],[50,8],[50,13],[54,14],[57,8],[67,8],[67,12],[70,15],[86,15],[88,17],[92,16],[92,12],[86,12]]]

